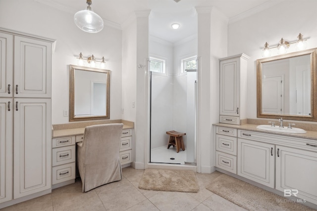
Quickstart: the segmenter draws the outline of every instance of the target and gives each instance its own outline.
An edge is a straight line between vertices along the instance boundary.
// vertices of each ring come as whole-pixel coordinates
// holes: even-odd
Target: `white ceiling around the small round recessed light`
[[[86,8],[86,0],[33,0],[60,10],[74,13]],[[149,34],[171,43],[196,35],[197,16],[195,7],[216,7],[229,21],[259,12],[281,0],[92,0],[93,10],[106,25],[121,28],[131,19],[135,11],[151,10]],[[172,30],[172,23],[179,23]]]

